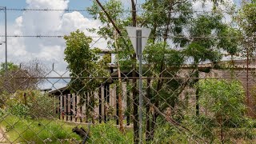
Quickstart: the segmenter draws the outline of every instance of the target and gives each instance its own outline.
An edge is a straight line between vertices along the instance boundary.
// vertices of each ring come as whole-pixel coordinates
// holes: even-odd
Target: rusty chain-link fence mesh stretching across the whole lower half
[[[255,141],[254,62],[143,69],[141,138],[138,70],[109,68],[108,77],[72,78],[54,67],[8,70],[0,79],[1,142]]]

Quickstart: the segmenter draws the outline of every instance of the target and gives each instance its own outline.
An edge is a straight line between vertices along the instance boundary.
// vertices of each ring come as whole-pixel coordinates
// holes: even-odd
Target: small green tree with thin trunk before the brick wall
[[[213,119],[219,126],[219,135],[222,143],[226,142],[228,126],[242,126],[246,105],[245,93],[242,84],[237,80],[202,80],[199,82],[199,103],[208,115],[205,118]],[[212,117],[214,115],[214,118]],[[203,122],[206,125],[207,122]],[[214,125],[213,125],[214,126]]]

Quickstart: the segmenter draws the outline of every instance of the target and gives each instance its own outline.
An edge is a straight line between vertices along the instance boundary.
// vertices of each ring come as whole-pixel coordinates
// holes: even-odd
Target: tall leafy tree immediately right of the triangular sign
[[[142,5],[145,13],[138,16],[142,21],[142,26],[150,27],[152,30],[150,46],[146,48],[144,58],[146,70],[150,69],[151,72],[147,76],[159,78],[153,81],[154,85],[149,88],[151,90],[147,90],[146,94],[150,103],[155,106],[154,109],[164,111],[170,107],[174,110],[174,106],[178,103],[178,94],[182,91],[183,82],[177,81],[175,77],[178,77],[177,72],[184,62],[184,54],[180,50],[175,50],[175,46],[169,43],[174,42],[174,38],[170,36],[184,33],[184,28],[192,18],[191,6],[189,1],[151,0]],[[173,14],[174,11],[178,14]],[[176,69],[171,69],[171,67],[176,67]],[[172,79],[163,80],[162,77]],[[147,83],[149,85],[150,80]],[[150,114],[150,105],[146,105],[146,110],[146,114]],[[154,110],[154,114],[146,117],[146,141],[152,141],[154,138],[158,116],[159,113]]]

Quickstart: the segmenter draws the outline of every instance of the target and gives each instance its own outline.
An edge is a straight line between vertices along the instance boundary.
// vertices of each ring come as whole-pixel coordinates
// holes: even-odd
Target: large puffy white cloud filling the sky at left
[[[24,11],[20,17],[16,18],[13,25],[8,25],[8,35],[65,35],[79,29],[87,35],[97,36],[90,34],[86,29],[101,26],[99,21],[85,18],[77,11],[66,13],[64,10],[68,8],[69,1],[26,0],[26,3],[26,8],[29,9],[58,9],[58,11]],[[98,38],[93,39],[96,41]],[[4,38],[0,38],[0,42],[3,40]],[[105,48],[106,42],[101,41],[101,46]],[[4,62],[5,50],[2,48],[4,46],[0,49],[3,56],[0,61]],[[58,67],[59,74],[68,75],[64,50],[63,38],[8,38],[8,59],[10,61],[26,62],[38,58],[50,68],[54,63],[55,70]],[[55,73],[52,72],[50,75],[55,75]],[[63,84],[57,85],[63,86]]]

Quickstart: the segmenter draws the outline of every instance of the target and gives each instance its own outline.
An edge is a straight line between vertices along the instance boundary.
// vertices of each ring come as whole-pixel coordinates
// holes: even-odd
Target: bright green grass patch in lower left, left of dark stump
[[[40,125],[38,125],[40,123]],[[35,142],[35,143],[70,143],[68,139],[74,138],[77,142],[81,138],[72,133],[74,126],[67,125],[64,122],[54,122],[52,120],[31,120],[7,116],[0,122],[6,130],[6,134],[11,142]],[[28,129],[29,127],[29,129]]]

